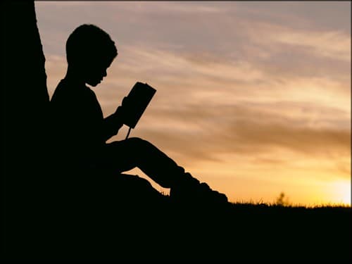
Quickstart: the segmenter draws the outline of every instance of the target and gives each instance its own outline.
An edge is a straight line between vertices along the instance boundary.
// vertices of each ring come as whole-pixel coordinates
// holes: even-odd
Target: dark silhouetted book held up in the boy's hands
[[[127,95],[131,108],[126,113],[123,123],[130,128],[134,128],[155,93],[156,89],[149,84],[136,82],[130,94]]]

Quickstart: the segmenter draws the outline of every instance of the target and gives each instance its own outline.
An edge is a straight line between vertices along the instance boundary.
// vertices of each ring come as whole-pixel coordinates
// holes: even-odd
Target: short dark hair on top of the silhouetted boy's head
[[[115,42],[96,25],[80,25],[66,42],[66,58],[71,65],[91,60],[113,61],[116,56],[118,49]]]

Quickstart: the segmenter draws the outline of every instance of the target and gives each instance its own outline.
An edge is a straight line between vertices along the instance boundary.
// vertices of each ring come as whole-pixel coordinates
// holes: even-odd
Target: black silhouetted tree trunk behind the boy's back
[[[1,255],[20,260],[38,246],[46,206],[49,94],[34,1],[1,1],[1,61]]]

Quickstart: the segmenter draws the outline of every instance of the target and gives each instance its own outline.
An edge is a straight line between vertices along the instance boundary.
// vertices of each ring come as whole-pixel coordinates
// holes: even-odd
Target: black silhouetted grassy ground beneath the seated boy
[[[72,206],[29,227],[20,263],[349,263],[351,208],[229,204]],[[107,213],[108,211],[108,213]],[[40,231],[42,229],[42,232]],[[20,234],[20,237],[23,233]],[[16,247],[18,246],[18,247]],[[12,254],[12,255],[11,255]]]

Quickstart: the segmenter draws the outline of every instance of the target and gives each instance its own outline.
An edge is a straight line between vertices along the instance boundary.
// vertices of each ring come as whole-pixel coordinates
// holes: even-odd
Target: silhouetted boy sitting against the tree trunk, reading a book
[[[86,84],[96,87],[116,56],[109,34],[95,25],[80,25],[68,37],[67,72],[51,99],[58,167],[111,172],[111,177],[122,177],[121,172],[137,167],[162,187],[170,188],[170,199],[227,203],[225,194],[200,183],[144,139],[106,143],[118,133],[124,113],[132,106],[125,97],[115,113],[103,118],[96,95]]]

